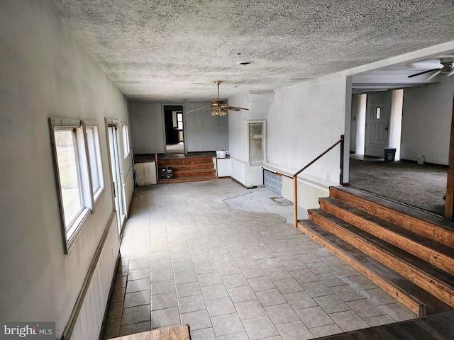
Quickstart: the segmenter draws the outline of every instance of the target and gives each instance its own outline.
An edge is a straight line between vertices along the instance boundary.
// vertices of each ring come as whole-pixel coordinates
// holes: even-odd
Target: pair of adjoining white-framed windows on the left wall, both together
[[[103,188],[97,123],[49,118],[65,253],[70,251]]]

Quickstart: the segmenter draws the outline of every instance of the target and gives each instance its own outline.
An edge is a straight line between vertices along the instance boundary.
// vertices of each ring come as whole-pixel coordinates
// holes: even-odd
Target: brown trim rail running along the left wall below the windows
[[[96,251],[94,253],[92,263],[90,263],[89,271],[87,273],[87,276],[85,276],[84,283],[82,284],[82,289],[80,290],[80,293],[79,293],[79,296],[77,297],[74,308],[72,309],[70,319],[67,322],[67,325],[65,327],[65,330],[63,331],[63,334],[62,334],[62,337],[60,338],[60,340],[71,339],[72,331],[74,331],[74,327],[76,325],[77,318],[79,317],[79,313],[82,308],[82,304],[84,303],[84,299],[89,290],[89,285],[92,282],[93,274],[94,274],[94,271],[98,264],[99,257],[101,256],[101,251],[104,248],[104,244],[106,243],[107,235],[109,234],[110,227],[112,225],[112,221],[114,220],[115,217],[116,217],[116,212],[112,211],[111,216],[109,217],[109,222],[107,222],[107,225],[104,228],[104,233],[102,234],[101,241],[99,242],[98,247],[96,248]]]

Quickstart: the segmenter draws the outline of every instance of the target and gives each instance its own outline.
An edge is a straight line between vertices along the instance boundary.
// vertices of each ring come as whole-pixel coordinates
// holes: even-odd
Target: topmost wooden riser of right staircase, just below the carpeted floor
[[[411,232],[423,237],[427,237],[428,239],[454,248],[454,233],[443,229],[438,225],[433,225],[431,222],[419,220],[416,217],[383,207],[382,205],[346,193],[345,191],[340,191],[336,188],[330,188],[330,197],[340,200],[359,210],[368,212],[370,215],[379,217],[382,220],[409,229]]]

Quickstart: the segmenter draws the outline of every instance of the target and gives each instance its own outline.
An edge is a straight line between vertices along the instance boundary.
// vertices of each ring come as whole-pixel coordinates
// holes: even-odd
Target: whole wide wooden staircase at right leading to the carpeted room
[[[331,187],[298,226],[423,317],[454,308],[454,225],[353,188]]]

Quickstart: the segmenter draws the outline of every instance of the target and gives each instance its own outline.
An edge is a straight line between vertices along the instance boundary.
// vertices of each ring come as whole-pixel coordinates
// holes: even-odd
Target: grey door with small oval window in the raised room
[[[367,94],[366,156],[384,157],[384,148],[388,145],[390,94],[389,91]]]

